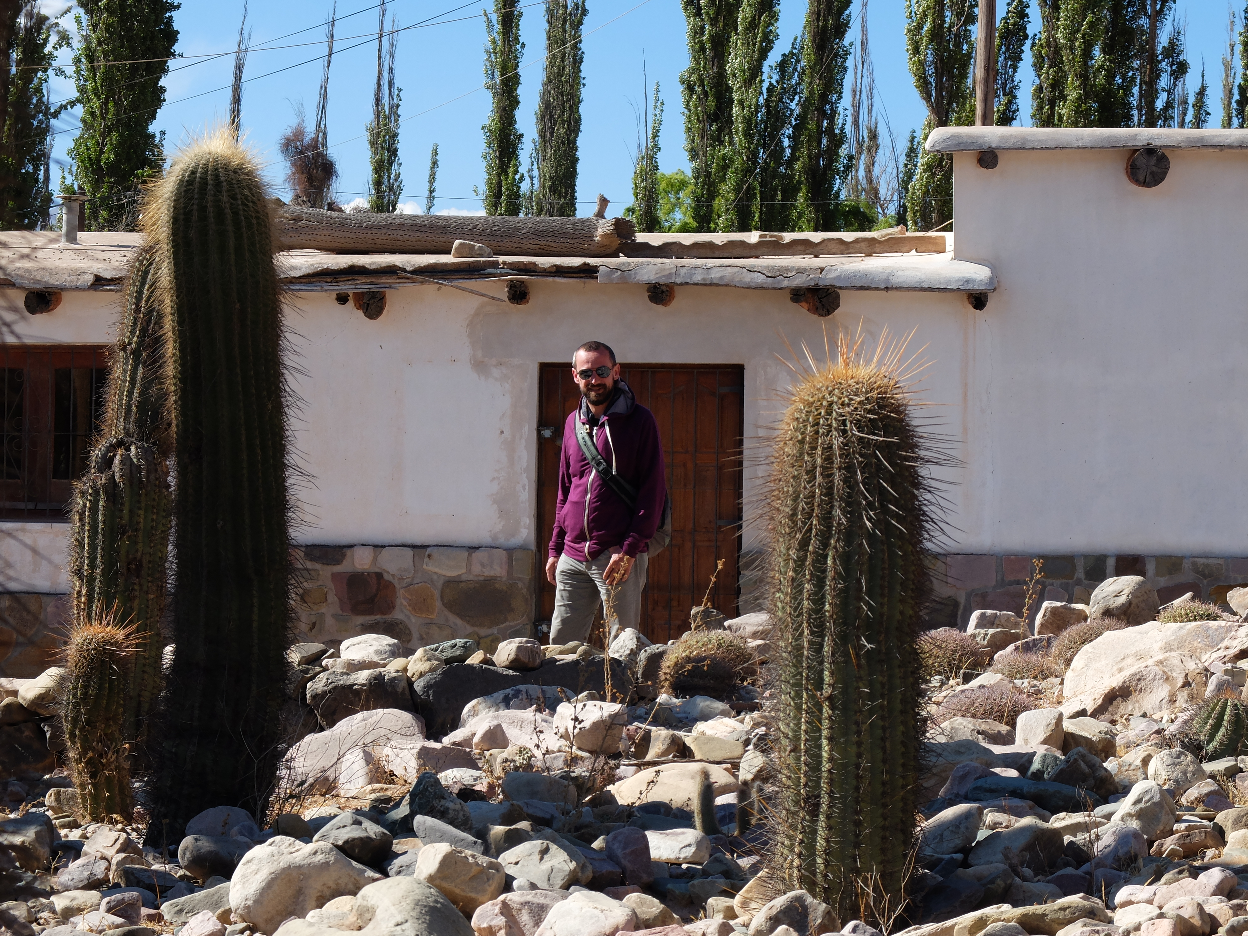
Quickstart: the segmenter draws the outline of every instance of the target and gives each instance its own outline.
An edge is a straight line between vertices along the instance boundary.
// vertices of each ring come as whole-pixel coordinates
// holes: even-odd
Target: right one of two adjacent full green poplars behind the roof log
[[[545,0],[547,57],[538,96],[533,213],[577,216],[585,0]]]

